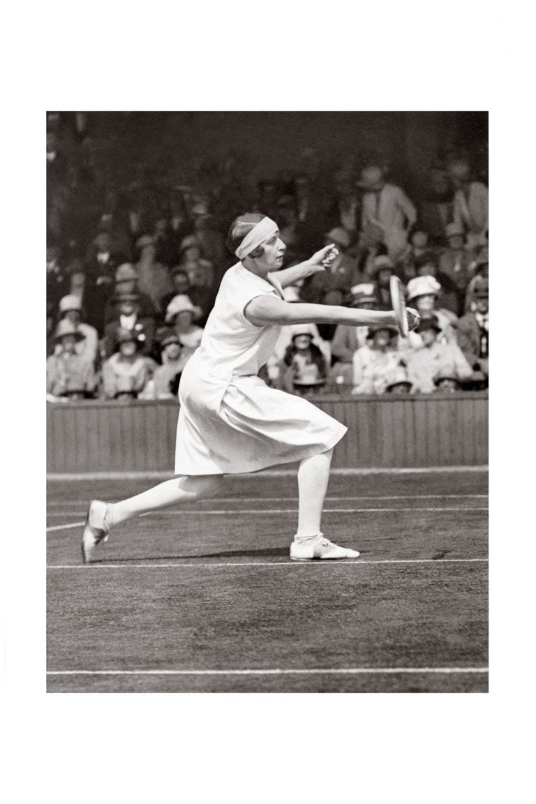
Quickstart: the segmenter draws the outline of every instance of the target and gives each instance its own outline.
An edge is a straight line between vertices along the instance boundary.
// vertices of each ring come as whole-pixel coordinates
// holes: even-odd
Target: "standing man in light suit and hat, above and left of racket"
[[[417,219],[415,207],[400,187],[383,178],[383,169],[375,164],[361,171],[362,229],[374,224],[383,230],[387,253],[394,260],[403,253],[407,244],[407,231]]]

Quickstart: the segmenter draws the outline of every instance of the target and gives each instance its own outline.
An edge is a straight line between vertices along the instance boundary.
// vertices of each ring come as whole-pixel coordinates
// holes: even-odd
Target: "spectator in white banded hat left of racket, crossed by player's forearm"
[[[361,310],[378,309],[378,300],[374,296],[374,285],[354,285],[350,291],[350,299],[349,307],[358,307]],[[368,334],[368,326],[338,324],[335,328],[331,343],[333,366],[329,377],[336,384],[351,385],[353,383],[354,353],[366,346]]]

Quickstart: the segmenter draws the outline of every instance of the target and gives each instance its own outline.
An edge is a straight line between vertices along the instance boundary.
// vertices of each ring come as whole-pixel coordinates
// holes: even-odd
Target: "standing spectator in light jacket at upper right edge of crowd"
[[[454,192],[454,223],[467,232],[470,247],[485,245],[488,231],[488,188],[473,178],[471,166],[455,159],[448,166]]]

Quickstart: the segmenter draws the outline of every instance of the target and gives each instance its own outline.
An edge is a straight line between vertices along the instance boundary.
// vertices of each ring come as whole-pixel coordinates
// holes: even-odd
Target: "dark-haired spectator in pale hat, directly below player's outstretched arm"
[[[284,391],[306,396],[325,386],[328,364],[313,343],[315,332],[310,324],[293,324],[290,329],[292,342],[284,353],[280,384]]]

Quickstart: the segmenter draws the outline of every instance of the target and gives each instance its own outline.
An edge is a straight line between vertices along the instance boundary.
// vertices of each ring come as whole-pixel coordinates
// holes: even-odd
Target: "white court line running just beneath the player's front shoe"
[[[213,568],[213,567],[318,567],[337,566],[348,567],[364,564],[488,564],[487,558],[408,558],[408,559],[383,559],[383,560],[343,560],[343,561],[228,561],[225,564],[210,564],[198,562],[196,564],[186,564],[186,562],[174,564],[47,564],[47,569],[169,569],[177,567],[186,568]]]

